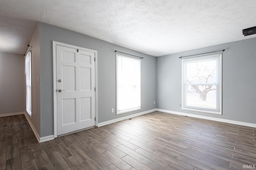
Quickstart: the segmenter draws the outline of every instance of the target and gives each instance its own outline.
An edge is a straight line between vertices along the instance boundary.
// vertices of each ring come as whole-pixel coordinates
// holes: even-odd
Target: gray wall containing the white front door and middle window
[[[52,41],[98,51],[98,123],[156,108],[156,57],[46,23],[39,23],[39,32],[41,137],[54,134]],[[115,50],[144,57],[141,62],[141,110],[116,115]],[[111,108],[115,109],[114,113]]]

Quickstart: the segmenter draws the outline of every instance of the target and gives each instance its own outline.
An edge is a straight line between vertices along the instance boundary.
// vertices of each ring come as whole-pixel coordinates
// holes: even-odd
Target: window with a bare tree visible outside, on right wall
[[[182,60],[182,109],[221,113],[222,54]]]

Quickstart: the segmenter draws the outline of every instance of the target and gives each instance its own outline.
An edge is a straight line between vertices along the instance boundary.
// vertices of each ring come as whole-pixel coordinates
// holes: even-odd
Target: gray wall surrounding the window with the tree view
[[[182,110],[180,56],[226,49],[222,55],[222,115]],[[214,54],[214,53],[212,53]],[[157,108],[256,123],[256,38],[157,58]]]

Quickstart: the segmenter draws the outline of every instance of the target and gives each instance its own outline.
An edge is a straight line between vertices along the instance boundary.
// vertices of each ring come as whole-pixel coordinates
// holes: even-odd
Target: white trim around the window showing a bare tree
[[[219,55],[219,73],[220,73],[220,77],[219,77],[219,107],[220,110],[219,111],[213,111],[213,110],[206,110],[206,109],[194,109],[194,108],[188,108],[188,107],[184,107],[184,60],[190,60],[190,59],[194,59],[195,57],[189,58],[189,59],[183,59],[182,60],[182,107],[181,109],[183,110],[190,110],[190,111],[199,111],[199,112],[204,112],[204,113],[213,113],[213,114],[218,114],[218,115],[222,115],[222,54],[215,54],[215,55],[207,55],[207,56],[202,56],[202,57],[196,57],[196,58],[204,58],[204,57],[212,57],[212,56],[216,56]]]

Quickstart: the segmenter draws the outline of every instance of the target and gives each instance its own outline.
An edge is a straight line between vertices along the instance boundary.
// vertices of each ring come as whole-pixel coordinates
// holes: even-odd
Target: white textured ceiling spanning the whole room
[[[256,0],[0,0],[0,50],[20,53],[41,21],[161,56],[256,37],[242,35],[255,9]]]

